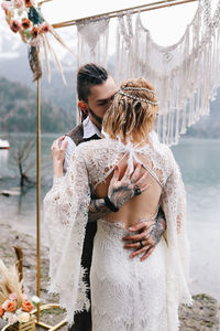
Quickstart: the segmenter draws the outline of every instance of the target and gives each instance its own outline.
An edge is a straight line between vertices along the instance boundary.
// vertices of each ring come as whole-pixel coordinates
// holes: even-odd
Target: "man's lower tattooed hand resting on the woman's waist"
[[[124,248],[135,249],[130,257],[142,254],[141,261],[145,260],[154,250],[166,229],[166,220],[163,210],[160,210],[155,221],[141,222],[129,228],[134,234],[123,237]],[[138,234],[136,234],[138,232]]]

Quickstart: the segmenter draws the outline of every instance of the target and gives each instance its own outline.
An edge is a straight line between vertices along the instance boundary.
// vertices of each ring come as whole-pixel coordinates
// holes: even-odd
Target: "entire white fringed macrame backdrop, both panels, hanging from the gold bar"
[[[134,24],[135,20],[135,24]],[[108,64],[108,17],[78,24],[78,66]],[[186,128],[209,114],[209,100],[220,85],[220,0],[211,17],[211,0],[201,0],[182,39],[172,46],[156,44],[141,13],[118,15],[114,78],[145,77],[160,99],[156,131],[175,145]],[[112,45],[111,45],[112,51]]]

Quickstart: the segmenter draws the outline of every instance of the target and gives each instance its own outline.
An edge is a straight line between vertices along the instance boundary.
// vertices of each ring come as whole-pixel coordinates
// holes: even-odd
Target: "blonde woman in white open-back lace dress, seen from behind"
[[[80,258],[90,196],[111,203],[107,193],[116,166],[122,178],[140,163],[140,177],[147,171],[151,188],[142,194],[136,188],[120,210],[98,220],[90,270],[92,330],[176,331],[179,303],[191,303],[182,175],[169,148],[148,137],[157,105],[145,79],[125,81],[105,116],[103,139],[78,146],[65,177],[65,142],[52,151],[54,184],[44,199],[50,291],[59,293],[69,324],[75,312],[89,308]],[[160,205],[167,222],[164,237],[146,260],[130,258],[121,238],[131,235],[132,225],[152,222]]]

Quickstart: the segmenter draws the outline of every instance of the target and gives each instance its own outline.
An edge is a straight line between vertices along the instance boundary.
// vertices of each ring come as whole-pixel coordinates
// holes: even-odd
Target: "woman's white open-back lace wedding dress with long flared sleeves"
[[[127,153],[132,168],[151,161],[161,172],[161,203],[167,231],[145,260],[129,258],[121,241],[128,234],[122,223],[98,220],[91,281],[92,331],[176,331],[178,306],[190,303],[187,286],[188,242],[185,228],[185,190],[170,150],[154,142],[142,148],[102,139],[77,147],[67,174],[55,178],[44,200],[44,222],[50,241],[52,292],[74,313],[88,309],[85,270],[80,266],[90,193]]]

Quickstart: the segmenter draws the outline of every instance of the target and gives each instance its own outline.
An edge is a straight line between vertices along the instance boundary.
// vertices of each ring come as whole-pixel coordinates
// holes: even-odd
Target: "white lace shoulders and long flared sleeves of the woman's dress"
[[[50,291],[59,293],[69,324],[77,311],[89,309],[84,282],[86,270],[80,265],[91,190],[103,182],[124,153],[150,157],[153,169],[162,172],[163,206],[167,229],[166,279],[168,324],[178,329],[179,303],[191,303],[187,280],[189,246],[186,236],[186,197],[179,168],[169,148],[162,143],[143,148],[102,139],[81,143],[75,150],[68,171],[54,178],[44,199],[44,222],[50,245]],[[108,171],[109,170],[109,171]]]

